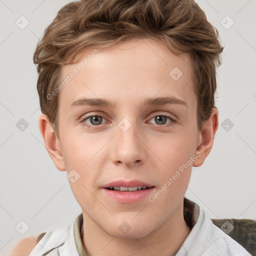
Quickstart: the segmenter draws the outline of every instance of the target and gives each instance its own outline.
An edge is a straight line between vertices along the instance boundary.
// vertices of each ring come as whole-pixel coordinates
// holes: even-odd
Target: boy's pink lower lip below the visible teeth
[[[147,189],[135,190],[135,191],[116,191],[103,188],[107,196],[113,198],[120,203],[133,203],[139,202],[152,192],[154,186]]]

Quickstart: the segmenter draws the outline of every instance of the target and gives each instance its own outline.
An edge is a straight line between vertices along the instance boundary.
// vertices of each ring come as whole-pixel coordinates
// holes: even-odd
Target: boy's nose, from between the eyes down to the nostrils
[[[146,157],[145,138],[142,136],[142,132],[139,131],[135,122],[127,123],[127,120],[123,123],[120,122],[115,131],[116,135],[113,137],[110,152],[112,162],[114,164],[124,164],[129,167],[142,164]]]

